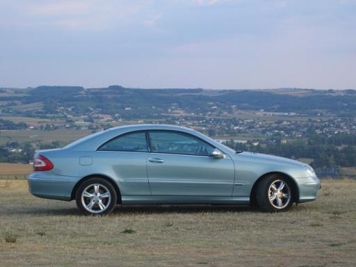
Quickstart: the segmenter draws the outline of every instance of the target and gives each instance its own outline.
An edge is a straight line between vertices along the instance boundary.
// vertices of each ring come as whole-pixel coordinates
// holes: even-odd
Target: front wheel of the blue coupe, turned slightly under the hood
[[[284,177],[270,175],[258,184],[256,200],[262,211],[288,211],[293,205],[293,186]]]

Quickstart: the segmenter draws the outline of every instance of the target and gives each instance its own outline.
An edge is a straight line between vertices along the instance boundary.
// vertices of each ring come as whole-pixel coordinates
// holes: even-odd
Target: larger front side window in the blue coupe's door
[[[210,156],[214,147],[189,134],[174,131],[150,131],[152,152]]]

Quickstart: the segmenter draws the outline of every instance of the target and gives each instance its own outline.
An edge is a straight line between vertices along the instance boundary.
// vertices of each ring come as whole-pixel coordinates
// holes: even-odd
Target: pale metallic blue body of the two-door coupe
[[[51,164],[49,168],[47,164],[41,169],[46,163]],[[264,201],[258,199],[259,184],[271,176],[289,186],[289,202],[301,203],[316,200],[321,186],[305,163],[235,152],[193,129],[159,124],[115,127],[63,148],[36,151],[35,166],[28,182],[29,191],[37,197],[74,200],[81,184],[96,178],[108,183],[106,190],[112,186],[115,202],[123,205],[254,204]],[[269,186],[270,199],[277,195],[281,201],[283,193],[287,195],[277,190],[278,182]],[[93,202],[98,201],[92,195],[94,189],[87,193]],[[76,201],[88,203],[84,198]],[[270,211],[278,211],[282,204],[273,206]]]

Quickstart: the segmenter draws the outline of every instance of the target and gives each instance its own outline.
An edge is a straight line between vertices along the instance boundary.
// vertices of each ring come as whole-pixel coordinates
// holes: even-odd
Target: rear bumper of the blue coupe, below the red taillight
[[[51,172],[33,172],[27,177],[32,195],[66,201],[71,200],[72,190],[79,179],[79,177],[54,175]]]

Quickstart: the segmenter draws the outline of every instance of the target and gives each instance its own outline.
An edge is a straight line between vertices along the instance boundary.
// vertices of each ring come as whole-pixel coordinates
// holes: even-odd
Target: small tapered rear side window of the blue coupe
[[[104,143],[99,151],[148,152],[146,133],[126,133]]]

